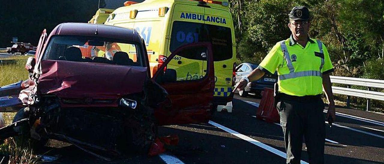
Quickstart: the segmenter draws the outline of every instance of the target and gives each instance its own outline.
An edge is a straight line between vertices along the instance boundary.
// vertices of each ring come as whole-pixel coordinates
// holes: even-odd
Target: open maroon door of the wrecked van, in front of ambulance
[[[169,64],[175,55],[193,59],[195,64],[206,61],[207,64],[191,67]],[[190,62],[188,64],[191,64]],[[182,69],[179,69],[182,67]],[[206,67],[205,72],[201,68]],[[197,69],[197,70],[192,70]],[[198,72],[198,73],[197,73]],[[177,48],[157,70],[152,82],[161,85],[169,94],[168,107],[155,110],[159,125],[176,125],[208,122],[213,110],[212,100],[215,88],[215,71],[210,43],[192,43]]]

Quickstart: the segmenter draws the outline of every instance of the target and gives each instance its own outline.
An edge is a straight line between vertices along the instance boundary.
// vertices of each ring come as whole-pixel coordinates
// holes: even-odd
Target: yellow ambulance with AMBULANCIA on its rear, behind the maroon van
[[[147,46],[152,74],[180,46],[210,42],[215,67],[214,105],[232,101],[236,49],[228,0],[145,0],[127,1],[124,5],[114,10],[104,24],[139,31]],[[198,80],[204,77],[207,63],[199,58],[178,54],[168,67],[175,66],[172,69],[178,71],[178,80]],[[180,76],[179,72],[184,73]]]

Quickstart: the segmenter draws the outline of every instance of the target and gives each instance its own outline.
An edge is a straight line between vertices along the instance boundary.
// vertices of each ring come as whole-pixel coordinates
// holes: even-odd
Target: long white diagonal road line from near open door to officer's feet
[[[266,150],[268,150],[268,151],[270,151],[270,152],[272,152],[272,153],[274,153],[274,154],[276,154],[276,155],[278,155],[280,157],[286,158],[286,156],[287,156],[284,152],[282,152],[282,151],[280,151],[278,149],[272,148],[271,146],[268,146],[266,144],[261,143],[260,141],[257,141],[255,139],[252,139],[252,138],[248,137],[248,136],[240,134],[237,131],[231,130],[231,129],[225,127],[225,126],[222,126],[222,125],[220,125],[218,123],[215,123],[214,121],[209,121],[208,123],[213,125],[213,126],[216,126],[216,127],[220,128],[220,129],[222,129],[224,131],[227,131],[228,133],[231,133],[232,135],[237,136],[238,138],[244,139],[245,141],[248,141],[248,142],[250,142],[250,143],[252,143],[252,144],[254,144],[256,146],[259,146],[260,148],[266,149]],[[305,162],[305,161],[301,161],[301,164],[308,164],[308,163]]]

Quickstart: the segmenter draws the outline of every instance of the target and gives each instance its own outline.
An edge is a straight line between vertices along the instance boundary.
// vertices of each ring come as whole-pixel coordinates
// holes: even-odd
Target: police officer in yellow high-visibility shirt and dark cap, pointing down
[[[283,128],[287,163],[300,163],[303,136],[310,163],[324,163],[325,123],[323,87],[329,102],[326,118],[335,120],[329,73],[333,71],[323,43],[308,36],[310,13],[294,7],[289,14],[290,38],[276,43],[257,69],[240,80],[234,90],[243,90],[265,72],[278,72],[276,108]]]

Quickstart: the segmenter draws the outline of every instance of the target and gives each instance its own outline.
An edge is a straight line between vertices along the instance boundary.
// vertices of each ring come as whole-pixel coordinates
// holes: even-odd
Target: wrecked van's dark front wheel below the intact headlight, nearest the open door
[[[142,106],[124,121],[124,132],[119,139],[123,153],[146,154],[157,137],[157,124],[153,109]]]

